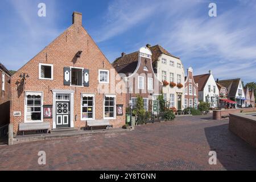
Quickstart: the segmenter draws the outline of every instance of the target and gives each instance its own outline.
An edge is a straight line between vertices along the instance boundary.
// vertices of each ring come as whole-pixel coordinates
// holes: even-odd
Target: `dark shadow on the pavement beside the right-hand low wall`
[[[216,151],[217,160],[227,170],[255,170],[256,148],[234,135],[228,124],[205,128],[210,150]]]

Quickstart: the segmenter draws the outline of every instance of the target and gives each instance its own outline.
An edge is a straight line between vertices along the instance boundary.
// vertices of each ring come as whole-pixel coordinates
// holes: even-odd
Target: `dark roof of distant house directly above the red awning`
[[[218,80],[218,83],[225,86],[228,90],[228,97],[236,97],[240,78],[230,80]]]

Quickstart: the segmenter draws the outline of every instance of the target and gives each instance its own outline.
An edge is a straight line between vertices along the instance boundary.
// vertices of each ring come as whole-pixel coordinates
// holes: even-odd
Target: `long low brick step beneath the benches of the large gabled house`
[[[133,131],[134,129],[109,129],[109,130],[76,130],[76,131],[61,131],[61,132],[53,132],[51,134],[32,134],[32,135],[18,135],[13,138],[13,144],[19,143],[27,143],[27,142],[35,142],[42,140],[53,140],[53,139],[63,139],[70,137],[83,137],[88,135],[95,134],[109,134],[109,133],[122,133],[125,131]]]

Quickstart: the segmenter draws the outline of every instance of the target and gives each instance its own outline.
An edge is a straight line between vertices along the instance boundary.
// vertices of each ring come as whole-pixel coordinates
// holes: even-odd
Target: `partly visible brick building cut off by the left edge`
[[[11,73],[0,63],[0,127],[10,121],[10,79]]]

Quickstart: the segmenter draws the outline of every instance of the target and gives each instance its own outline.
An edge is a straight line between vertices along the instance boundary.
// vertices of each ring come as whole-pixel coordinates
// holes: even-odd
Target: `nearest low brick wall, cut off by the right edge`
[[[229,130],[256,148],[256,116],[230,114]]]

